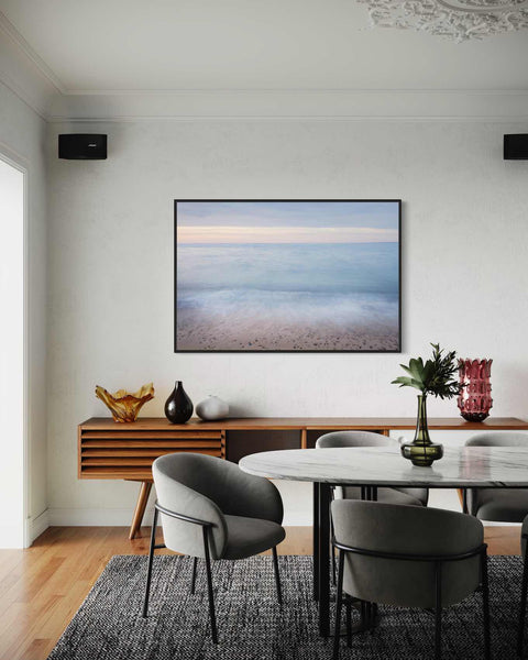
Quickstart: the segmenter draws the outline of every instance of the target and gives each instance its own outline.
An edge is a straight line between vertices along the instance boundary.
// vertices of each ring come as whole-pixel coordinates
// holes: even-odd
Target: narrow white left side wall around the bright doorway
[[[0,151],[28,170],[28,510],[30,540],[46,510],[46,123],[0,84]],[[2,310],[6,311],[6,310]],[[2,317],[2,323],[9,319]],[[4,429],[2,429],[4,430]],[[0,443],[15,439],[3,432]]]

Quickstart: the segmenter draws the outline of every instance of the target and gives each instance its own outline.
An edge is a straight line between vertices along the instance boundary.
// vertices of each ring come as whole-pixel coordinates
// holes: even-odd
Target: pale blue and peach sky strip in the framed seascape
[[[178,243],[393,243],[398,205],[351,202],[177,202]]]

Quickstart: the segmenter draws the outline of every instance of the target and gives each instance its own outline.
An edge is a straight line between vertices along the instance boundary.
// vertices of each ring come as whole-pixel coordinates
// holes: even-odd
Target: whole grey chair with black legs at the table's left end
[[[148,608],[152,561],[156,548],[189,554],[193,561],[191,593],[196,563],[206,560],[212,639],[218,640],[211,559],[244,559],[272,549],[278,602],[282,601],[277,544],[286,534],[283,503],[266,479],[246,474],[234,463],[206,454],[173,453],[152,465],[157,502],[152,525],[143,616]],[[161,514],[164,544],[155,544]]]

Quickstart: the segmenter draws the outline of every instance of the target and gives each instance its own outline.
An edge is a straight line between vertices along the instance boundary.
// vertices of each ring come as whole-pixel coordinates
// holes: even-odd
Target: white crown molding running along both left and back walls
[[[70,90],[0,12],[0,81],[50,122],[528,122],[528,90]]]

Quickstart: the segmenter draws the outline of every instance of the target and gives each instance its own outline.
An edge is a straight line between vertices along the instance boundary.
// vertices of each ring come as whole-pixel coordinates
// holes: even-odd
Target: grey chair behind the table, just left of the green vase
[[[334,431],[321,436],[317,448],[327,447],[395,447],[395,441],[372,431]],[[338,492],[343,499],[361,499],[361,487],[342,486]],[[428,488],[377,488],[377,502],[427,506]]]

